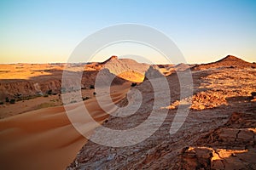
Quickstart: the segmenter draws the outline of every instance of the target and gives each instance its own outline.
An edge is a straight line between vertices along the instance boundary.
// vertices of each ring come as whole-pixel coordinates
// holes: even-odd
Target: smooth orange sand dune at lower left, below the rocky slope
[[[127,88],[112,94],[113,102],[125,97]],[[83,111],[83,103],[71,105]],[[102,123],[108,114],[96,99],[84,102],[96,122]],[[83,124],[90,133],[93,123]],[[69,121],[63,106],[30,111],[0,120],[0,167],[2,169],[64,169],[86,143]],[[15,162],[15,163],[14,163]]]

